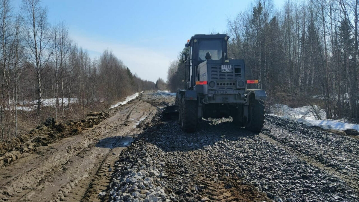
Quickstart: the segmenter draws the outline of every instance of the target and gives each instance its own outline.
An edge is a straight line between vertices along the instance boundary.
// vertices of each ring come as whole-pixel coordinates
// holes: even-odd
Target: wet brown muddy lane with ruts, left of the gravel
[[[108,110],[113,116],[93,128],[1,167],[0,201],[100,201],[98,193],[111,180],[108,167],[152,124],[157,109],[146,100],[160,103],[166,97],[143,95]]]

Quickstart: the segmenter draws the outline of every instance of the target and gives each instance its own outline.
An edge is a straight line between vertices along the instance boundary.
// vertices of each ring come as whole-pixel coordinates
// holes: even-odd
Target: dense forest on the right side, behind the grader
[[[358,7],[358,0],[290,0],[282,8],[257,0],[228,19],[229,58],[245,60],[267,107],[320,105],[328,119],[359,123]],[[172,91],[184,87],[184,73],[180,58],[170,64]]]

